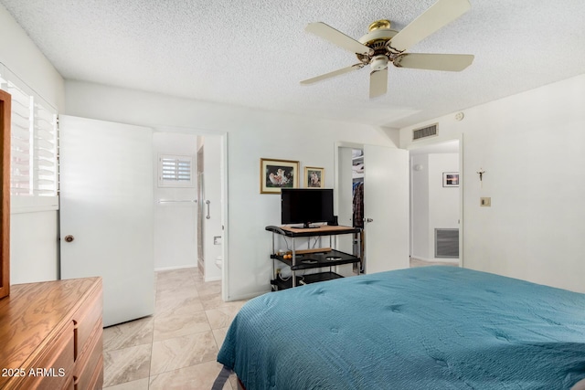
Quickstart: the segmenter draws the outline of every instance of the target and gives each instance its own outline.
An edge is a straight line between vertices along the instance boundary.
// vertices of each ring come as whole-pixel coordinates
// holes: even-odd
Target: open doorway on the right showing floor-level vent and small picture
[[[410,262],[463,265],[460,140],[410,149]]]

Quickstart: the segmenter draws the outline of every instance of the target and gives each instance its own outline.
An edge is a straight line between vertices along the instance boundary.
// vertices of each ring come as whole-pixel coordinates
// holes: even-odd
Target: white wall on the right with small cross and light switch
[[[585,292],[583,107],[580,75],[401,129],[402,147],[427,123],[433,141],[463,133],[464,267]]]

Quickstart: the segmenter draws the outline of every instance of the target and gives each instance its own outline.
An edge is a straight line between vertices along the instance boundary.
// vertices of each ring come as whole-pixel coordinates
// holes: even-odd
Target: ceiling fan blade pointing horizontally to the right
[[[398,68],[446,70],[459,72],[473,62],[471,54],[401,54],[393,63]]]

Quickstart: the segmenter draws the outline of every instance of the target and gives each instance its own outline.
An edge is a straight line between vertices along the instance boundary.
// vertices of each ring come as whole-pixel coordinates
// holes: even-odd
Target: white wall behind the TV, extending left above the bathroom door
[[[392,146],[378,128],[315,120],[286,113],[185,100],[78,81],[66,82],[67,114],[85,118],[227,133],[229,185],[229,300],[270,290],[271,234],[280,223],[280,197],[260,194],[260,159],[281,158],[303,167],[323,166],[325,186],[334,185],[335,142]],[[311,140],[308,142],[307,140]]]

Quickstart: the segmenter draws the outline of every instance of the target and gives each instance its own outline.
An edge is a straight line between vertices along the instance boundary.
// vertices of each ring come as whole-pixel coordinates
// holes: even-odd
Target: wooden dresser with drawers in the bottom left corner
[[[101,278],[15,284],[0,300],[0,389],[101,389]]]

